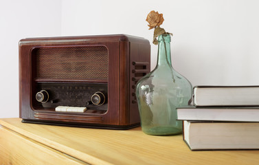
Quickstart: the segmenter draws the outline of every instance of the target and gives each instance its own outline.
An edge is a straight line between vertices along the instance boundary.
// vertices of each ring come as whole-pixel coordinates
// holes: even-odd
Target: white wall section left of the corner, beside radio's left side
[[[18,42],[60,36],[61,1],[0,1],[0,118],[19,117]]]

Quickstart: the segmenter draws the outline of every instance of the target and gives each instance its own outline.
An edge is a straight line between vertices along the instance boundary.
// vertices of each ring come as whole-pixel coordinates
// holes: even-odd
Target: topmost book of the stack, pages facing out
[[[196,86],[194,105],[210,106],[259,106],[259,86]]]

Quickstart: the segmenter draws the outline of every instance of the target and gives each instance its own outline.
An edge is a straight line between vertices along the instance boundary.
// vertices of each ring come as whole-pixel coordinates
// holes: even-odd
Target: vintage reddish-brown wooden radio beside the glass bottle
[[[23,122],[130,129],[139,126],[135,84],[150,72],[150,44],[123,34],[22,39]]]

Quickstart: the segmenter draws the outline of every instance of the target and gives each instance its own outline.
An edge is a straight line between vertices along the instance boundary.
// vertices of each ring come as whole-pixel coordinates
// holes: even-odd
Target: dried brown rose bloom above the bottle
[[[164,22],[163,14],[159,14],[153,10],[148,14],[148,17],[146,17],[146,21],[149,23],[149,30],[156,28]]]

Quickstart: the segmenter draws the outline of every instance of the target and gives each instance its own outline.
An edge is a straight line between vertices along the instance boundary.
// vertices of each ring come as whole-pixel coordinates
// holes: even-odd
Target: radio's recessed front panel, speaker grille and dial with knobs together
[[[56,107],[64,106],[107,111],[108,57],[104,45],[33,48],[32,109],[55,111]],[[78,80],[81,83],[76,83]],[[100,80],[105,83],[94,82]],[[92,101],[96,92],[104,97],[100,102]]]

